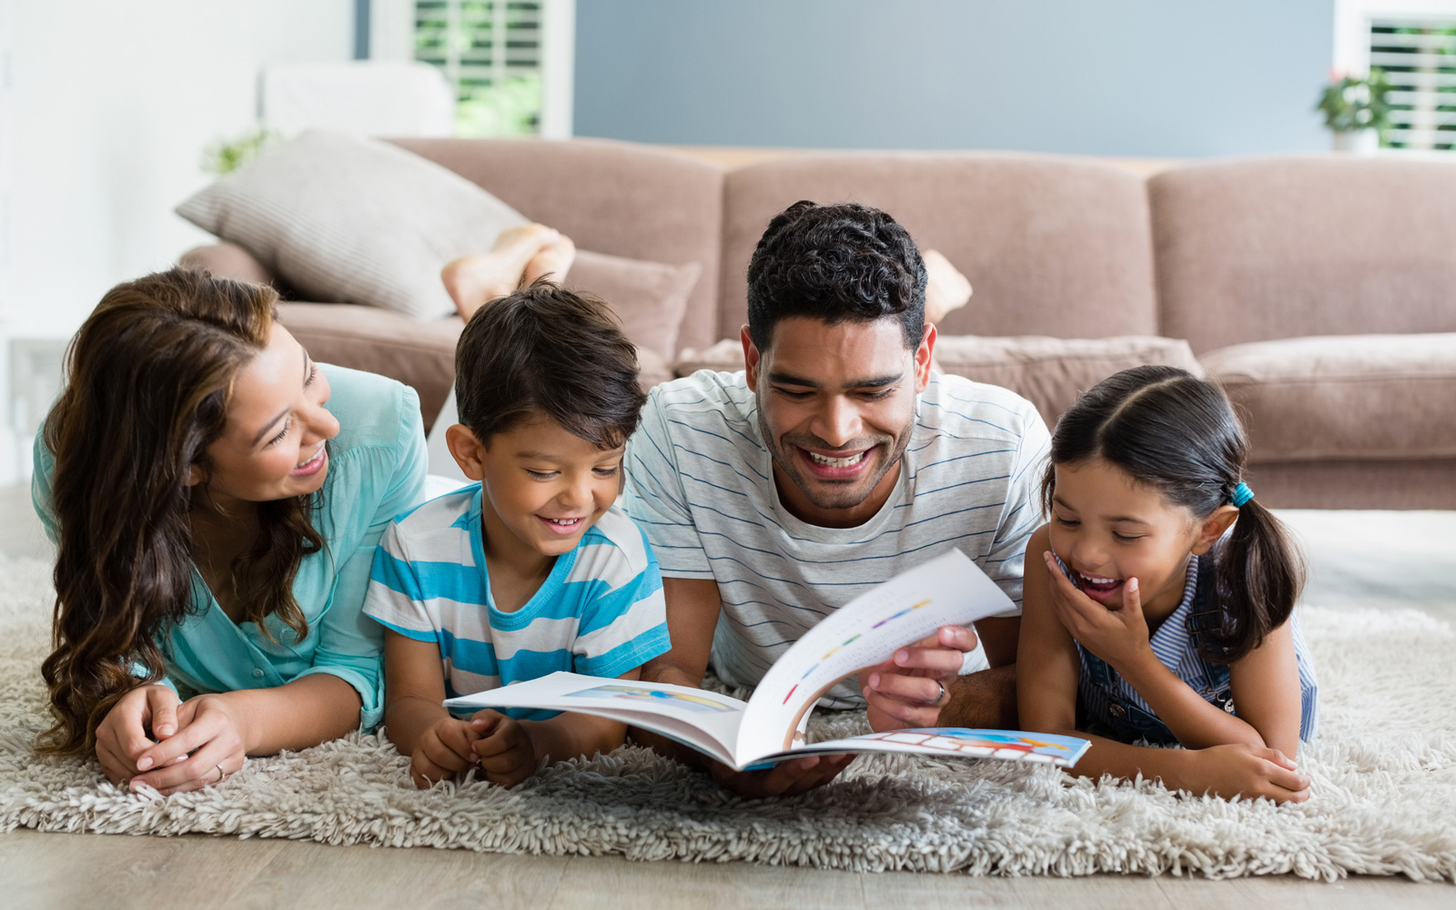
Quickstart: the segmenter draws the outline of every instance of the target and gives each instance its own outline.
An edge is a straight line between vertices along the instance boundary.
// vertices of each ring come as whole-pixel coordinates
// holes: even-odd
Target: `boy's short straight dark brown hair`
[[[607,304],[540,280],[470,317],[456,345],[460,422],[482,444],[546,415],[598,448],[636,430],[636,347]]]

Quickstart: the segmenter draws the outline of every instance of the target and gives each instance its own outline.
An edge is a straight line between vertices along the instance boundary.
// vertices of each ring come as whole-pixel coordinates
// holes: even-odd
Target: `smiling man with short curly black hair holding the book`
[[[796,202],[769,224],[748,265],[745,370],[658,386],[628,444],[623,507],[657,553],[673,639],[642,678],[697,686],[712,662],[754,684],[830,612],[952,546],[1019,604],[1047,428],[1005,389],[932,371],[925,296],[922,256],[885,213]],[[877,729],[1015,725],[1019,623],[943,628],[821,705],[868,708]],[[773,795],[846,763],[711,770]]]

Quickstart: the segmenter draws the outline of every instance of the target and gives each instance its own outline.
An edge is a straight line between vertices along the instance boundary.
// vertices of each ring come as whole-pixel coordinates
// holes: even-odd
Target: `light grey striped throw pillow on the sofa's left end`
[[[178,207],[309,300],[414,319],[454,313],[440,269],[527,218],[470,181],[389,143],[310,131]]]

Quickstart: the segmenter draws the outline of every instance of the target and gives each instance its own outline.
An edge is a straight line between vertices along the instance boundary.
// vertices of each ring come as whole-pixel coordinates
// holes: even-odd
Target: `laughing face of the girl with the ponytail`
[[[1123,606],[1127,579],[1137,578],[1146,613],[1175,610],[1188,555],[1206,553],[1227,524],[1200,521],[1102,459],[1056,466],[1051,550],[1072,569],[1076,585],[1108,609]]]

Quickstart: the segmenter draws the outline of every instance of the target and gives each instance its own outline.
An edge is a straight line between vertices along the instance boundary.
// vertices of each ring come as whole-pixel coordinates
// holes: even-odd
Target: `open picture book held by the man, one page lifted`
[[[737,769],[859,751],[1018,759],[1070,767],[1091,743],[1015,729],[936,727],[804,743],[814,703],[844,677],[888,660],[897,648],[929,638],[941,626],[964,626],[1012,609],[996,582],[952,549],[830,613],[779,655],[747,702],[686,686],[552,673],[448,699],[446,708],[591,713],[662,734]]]

